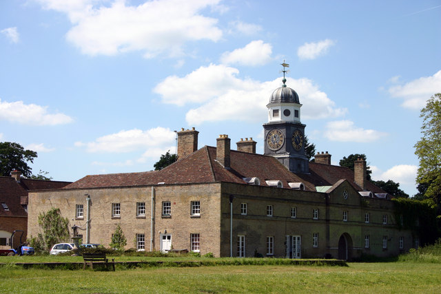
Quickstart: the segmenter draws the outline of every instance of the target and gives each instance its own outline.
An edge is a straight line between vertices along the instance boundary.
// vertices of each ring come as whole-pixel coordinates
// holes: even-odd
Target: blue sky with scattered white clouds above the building
[[[285,60],[316,150],[413,195],[440,36],[441,1],[0,0],[0,141],[70,181],[152,170],[181,127],[263,153]]]

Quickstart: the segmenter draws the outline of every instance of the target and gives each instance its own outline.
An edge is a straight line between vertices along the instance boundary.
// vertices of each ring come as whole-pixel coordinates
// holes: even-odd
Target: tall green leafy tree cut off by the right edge
[[[414,146],[420,160],[416,182],[425,188],[424,198],[429,198],[441,214],[441,93],[431,96],[421,109],[421,139]]]

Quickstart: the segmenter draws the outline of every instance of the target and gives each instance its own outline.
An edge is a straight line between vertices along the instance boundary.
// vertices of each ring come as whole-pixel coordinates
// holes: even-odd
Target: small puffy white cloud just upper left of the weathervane
[[[220,60],[225,64],[240,65],[264,65],[271,61],[271,44],[263,43],[262,40],[252,41],[244,48],[238,48],[233,52],[225,52]]]

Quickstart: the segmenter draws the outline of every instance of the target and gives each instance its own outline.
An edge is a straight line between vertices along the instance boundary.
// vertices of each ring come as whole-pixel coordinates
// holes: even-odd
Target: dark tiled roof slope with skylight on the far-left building
[[[21,206],[21,197],[28,197],[28,191],[23,189],[14,178],[0,177],[0,203],[5,203],[9,210],[0,204],[0,216],[27,216]]]

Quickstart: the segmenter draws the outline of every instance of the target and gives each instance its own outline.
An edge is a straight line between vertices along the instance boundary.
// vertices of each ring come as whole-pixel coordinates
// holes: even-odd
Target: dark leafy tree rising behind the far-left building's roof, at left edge
[[[26,162],[34,162],[37,152],[25,150],[18,143],[0,142],[0,176],[10,176],[13,169],[21,171],[21,174],[29,178],[32,169]]]

